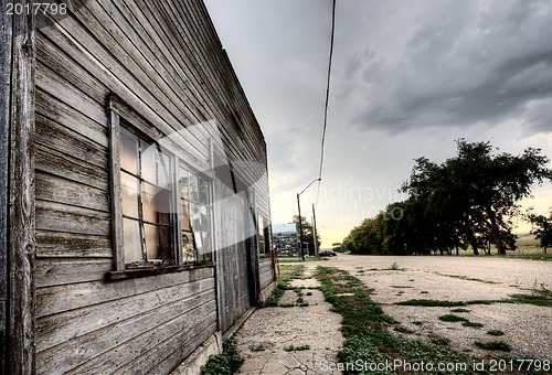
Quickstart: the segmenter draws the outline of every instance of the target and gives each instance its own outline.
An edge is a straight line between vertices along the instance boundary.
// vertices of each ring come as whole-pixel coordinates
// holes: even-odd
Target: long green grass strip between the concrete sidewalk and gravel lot
[[[471,360],[464,353],[448,346],[428,343],[420,339],[401,338],[390,331],[390,317],[370,298],[371,290],[351,277],[347,271],[318,267],[316,277],[320,280],[326,300],[342,315],[341,332],[344,336],[338,353],[341,363],[384,363],[393,360],[410,362],[467,363]],[[348,293],[344,296],[339,296]],[[392,319],[392,318],[391,318]],[[392,319],[394,324],[396,321]],[[363,374],[352,369],[349,374]]]

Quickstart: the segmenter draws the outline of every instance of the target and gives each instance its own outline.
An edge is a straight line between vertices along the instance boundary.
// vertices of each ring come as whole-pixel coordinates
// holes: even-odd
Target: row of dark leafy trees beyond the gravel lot
[[[518,204],[531,196],[531,186],[552,180],[549,159],[540,149],[521,156],[495,153],[490,142],[456,141],[457,156],[438,164],[415,160],[402,202],[389,204],[364,219],[343,239],[352,254],[498,254],[516,248],[517,219],[530,219],[537,237],[552,242],[552,216],[526,215]],[[546,229],[549,228],[549,229]],[[540,231],[540,232],[539,232]],[[550,246],[550,245],[549,245]]]

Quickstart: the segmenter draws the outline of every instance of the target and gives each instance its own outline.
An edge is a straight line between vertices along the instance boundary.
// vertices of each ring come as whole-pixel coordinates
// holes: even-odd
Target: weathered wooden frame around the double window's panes
[[[157,127],[153,127],[147,120],[145,120],[139,114],[137,114],[129,105],[123,101],[115,95],[112,95],[108,104],[108,147],[109,147],[109,169],[110,169],[110,196],[112,196],[112,240],[114,249],[114,269],[107,272],[107,280],[118,280],[128,277],[136,276],[150,276],[157,274],[166,274],[172,271],[180,271],[192,268],[212,267],[214,261],[214,210],[213,210],[213,182],[214,179],[209,173],[199,173],[194,168],[189,165],[183,158],[181,158],[179,152],[181,149],[174,144],[163,143],[159,144],[157,140],[164,138],[164,133]],[[123,122],[123,124],[121,124]],[[172,162],[171,178],[172,183],[172,194],[171,194],[171,205],[174,207],[172,213],[172,251],[174,265],[150,265],[149,267],[137,267],[128,268],[125,262],[125,249],[124,249],[124,231],[123,231],[123,204],[121,204],[121,164],[120,164],[120,141],[121,141],[121,128],[126,131],[136,136],[138,140],[142,140],[150,144],[155,144],[156,148],[169,156]],[[170,131],[169,129],[162,129]],[[171,149],[172,148],[172,149]],[[211,144],[210,144],[211,149]],[[211,161],[210,161],[211,162]],[[180,207],[180,186],[179,186],[179,174],[180,169],[183,168],[189,172],[193,173],[200,179],[208,182],[208,218],[209,218],[209,238],[210,238],[210,259],[199,259],[198,249],[194,246],[195,259],[192,262],[183,262],[182,254],[182,223],[181,223],[181,207]],[[139,202],[141,204],[141,202]],[[190,223],[191,224],[191,223]],[[192,225],[192,224],[191,224]],[[193,226],[191,227],[192,234],[195,232]],[[141,240],[141,238],[140,238]]]

